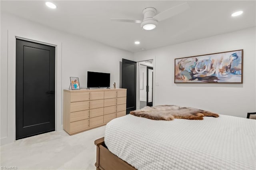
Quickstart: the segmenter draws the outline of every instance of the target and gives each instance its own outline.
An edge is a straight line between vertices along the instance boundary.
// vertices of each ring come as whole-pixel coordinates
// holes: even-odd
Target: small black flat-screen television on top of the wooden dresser
[[[87,87],[110,87],[110,73],[87,71]]]

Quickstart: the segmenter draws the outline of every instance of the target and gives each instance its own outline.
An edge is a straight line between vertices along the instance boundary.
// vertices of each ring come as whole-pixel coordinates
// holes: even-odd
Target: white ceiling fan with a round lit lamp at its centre
[[[189,8],[188,3],[185,2],[183,4],[179,4],[168,10],[165,10],[164,12],[161,12],[155,15],[156,8],[148,7],[142,11],[142,14],[144,14],[143,20],[129,20],[129,19],[117,19],[117,18],[111,18],[110,20],[116,21],[116,22],[133,22],[133,23],[139,23],[139,24],[141,23],[140,26],[142,29],[153,30],[154,28],[156,28],[158,21],[166,20],[168,18],[176,16],[181,12],[184,12],[188,8]]]

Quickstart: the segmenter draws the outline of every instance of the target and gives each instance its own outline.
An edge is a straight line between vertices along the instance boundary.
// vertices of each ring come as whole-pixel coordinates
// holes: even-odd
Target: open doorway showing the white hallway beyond
[[[139,65],[140,109],[153,105],[153,60],[141,61]]]

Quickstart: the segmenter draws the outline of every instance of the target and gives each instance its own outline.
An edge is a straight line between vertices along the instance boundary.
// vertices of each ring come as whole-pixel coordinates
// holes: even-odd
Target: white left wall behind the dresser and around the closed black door
[[[70,85],[69,77],[79,77],[85,88],[87,71],[107,72],[110,87],[114,82],[119,87],[120,61],[134,59],[128,51],[1,12],[1,144],[15,140],[15,36],[56,46],[57,130],[62,130],[62,93]]]

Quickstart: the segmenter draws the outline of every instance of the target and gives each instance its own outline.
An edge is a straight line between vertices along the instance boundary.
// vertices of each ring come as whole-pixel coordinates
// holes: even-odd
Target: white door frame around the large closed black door
[[[17,31],[18,32],[18,31]],[[55,47],[55,130],[62,126],[62,42],[56,42],[50,36],[28,36],[28,32],[14,33],[7,30],[7,125],[6,136],[1,138],[1,145],[16,140],[16,38]]]

